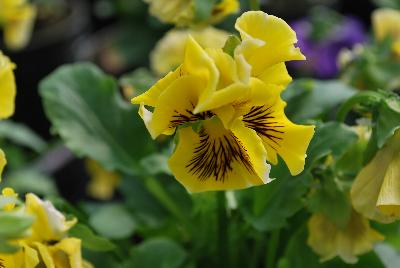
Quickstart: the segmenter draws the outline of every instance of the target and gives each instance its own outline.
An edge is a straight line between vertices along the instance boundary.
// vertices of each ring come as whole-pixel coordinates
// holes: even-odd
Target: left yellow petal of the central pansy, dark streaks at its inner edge
[[[203,119],[206,114],[192,111],[203,89],[202,80],[186,75],[177,79],[161,94],[151,121],[147,124],[152,137],[173,133],[179,125]]]

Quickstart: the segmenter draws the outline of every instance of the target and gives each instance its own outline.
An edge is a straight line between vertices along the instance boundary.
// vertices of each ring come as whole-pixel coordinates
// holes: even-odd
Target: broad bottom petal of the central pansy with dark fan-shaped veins
[[[176,179],[192,193],[242,189],[268,183],[269,165],[260,138],[236,121],[230,130],[217,118],[204,121],[196,133],[179,130],[179,143],[169,160]]]

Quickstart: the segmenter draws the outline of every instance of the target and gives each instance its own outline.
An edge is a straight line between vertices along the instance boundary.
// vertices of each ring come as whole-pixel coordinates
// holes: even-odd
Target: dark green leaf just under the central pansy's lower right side
[[[276,179],[267,185],[235,192],[245,220],[259,231],[286,226],[304,206],[302,198],[312,179],[308,172],[292,177],[283,161],[272,167],[270,176]]]

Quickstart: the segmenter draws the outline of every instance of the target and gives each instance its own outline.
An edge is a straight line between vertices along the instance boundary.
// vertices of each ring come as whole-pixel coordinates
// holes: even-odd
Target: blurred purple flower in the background
[[[307,61],[291,62],[290,66],[302,72],[314,74],[318,78],[332,78],[337,75],[337,56],[342,48],[352,48],[367,39],[362,23],[355,17],[343,17],[330,25],[323,36],[315,37],[311,20],[301,19],[292,23],[297,33],[298,46]]]

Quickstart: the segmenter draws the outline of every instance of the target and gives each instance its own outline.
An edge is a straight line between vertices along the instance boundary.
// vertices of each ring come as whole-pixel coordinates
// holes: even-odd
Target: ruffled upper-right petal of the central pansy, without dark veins
[[[262,11],[248,11],[236,21],[236,30],[242,44],[235,53],[243,54],[252,67],[252,76],[266,83],[269,79],[282,81],[287,85],[291,78],[286,72],[284,62],[305,60],[297,43],[296,33],[282,19]]]

